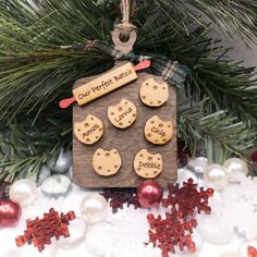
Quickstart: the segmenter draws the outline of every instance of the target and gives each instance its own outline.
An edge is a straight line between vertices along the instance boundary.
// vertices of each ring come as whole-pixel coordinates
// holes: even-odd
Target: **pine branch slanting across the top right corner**
[[[255,0],[157,0],[156,2],[166,10],[172,8],[175,14],[172,19],[184,25],[187,33],[189,29],[183,21],[188,16],[199,26],[206,26],[200,13],[207,16],[213,26],[217,26],[224,35],[233,37],[236,34],[246,42],[257,41],[257,2]]]

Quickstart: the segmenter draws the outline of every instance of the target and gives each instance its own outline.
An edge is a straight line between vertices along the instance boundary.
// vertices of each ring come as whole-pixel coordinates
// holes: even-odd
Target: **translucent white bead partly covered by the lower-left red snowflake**
[[[76,218],[70,222],[69,237],[61,237],[57,245],[62,249],[71,249],[76,247],[85,237],[86,222],[82,218]]]

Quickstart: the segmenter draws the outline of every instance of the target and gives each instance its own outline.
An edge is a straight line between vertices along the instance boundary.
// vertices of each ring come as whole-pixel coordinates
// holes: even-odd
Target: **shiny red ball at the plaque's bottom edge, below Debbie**
[[[160,205],[163,192],[156,181],[146,180],[138,185],[136,194],[142,207],[157,208]]]

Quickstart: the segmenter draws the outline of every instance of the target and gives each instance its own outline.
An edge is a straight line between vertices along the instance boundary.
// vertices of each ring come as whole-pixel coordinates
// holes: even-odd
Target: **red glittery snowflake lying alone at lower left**
[[[25,243],[33,243],[41,252],[45,249],[45,245],[51,244],[51,237],[56,236],[57,240],[60,236],[69,237],[68,225],[75,218],[74,211],[59,216],[58,211],[51,208],[49,213],[44,213],[42,219],[37,217],[35,220],[26,220],[27,229],[24,231],[24,235],[19,235],[15,238],[16,245],[23,246]]]

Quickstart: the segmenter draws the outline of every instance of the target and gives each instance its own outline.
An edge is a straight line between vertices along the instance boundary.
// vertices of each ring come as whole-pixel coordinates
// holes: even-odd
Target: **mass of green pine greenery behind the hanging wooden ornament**
[[[255,41],[256,2],[131,2],[131,21],[138,28],[134,51],[166,56],[191,69],[179,91],[191,102],[189,109],[178,103],[179,135],[193,149],[205,139],[215,161],[245,156],[256,145],[254,69],[225,58],[229,49],[209,38],[210,26],[199,13],[224,33]],[[111,44],[121,12],[118,0],[2,0],[0,14],[0,176],[14,180],[38,172],[61,147],[71,146],[72,110],[60,110],[58,101],[70,97],[77,78],[113,65],[108,56],[72,46],[94,39]]]

